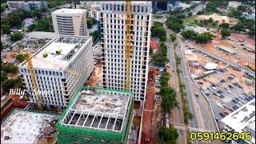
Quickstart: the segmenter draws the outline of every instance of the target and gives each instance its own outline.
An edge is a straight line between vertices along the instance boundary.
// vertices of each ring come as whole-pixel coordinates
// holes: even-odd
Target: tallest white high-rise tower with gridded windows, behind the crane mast
[[[151,2],[131,2],[130,90],[145,101],[149,70]],[[126,88],[126,2],[101,3],[103,86]]]

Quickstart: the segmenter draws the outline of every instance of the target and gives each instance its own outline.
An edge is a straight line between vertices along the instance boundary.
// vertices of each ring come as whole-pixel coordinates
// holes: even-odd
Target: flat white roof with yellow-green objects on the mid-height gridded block
[[[32,55],[34,68],[62,70],[90,37],[58,35]],[[60,52],[60,53],[58,53]],[[44,58],[43,54],[46,56]],[[22,62],[20,66],[26,65]]]

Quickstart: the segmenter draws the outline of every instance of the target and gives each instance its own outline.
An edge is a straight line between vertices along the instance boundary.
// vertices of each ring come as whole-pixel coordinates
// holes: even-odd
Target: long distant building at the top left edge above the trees
[[[7,1],[7,5],[9,10],[22,9],[28,11],[38,10],[48,6],[46,1]]]

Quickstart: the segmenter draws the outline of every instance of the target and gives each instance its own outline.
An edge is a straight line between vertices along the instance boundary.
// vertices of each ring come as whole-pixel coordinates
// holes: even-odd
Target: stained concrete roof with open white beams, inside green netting
[[[113,90],[80,90],[61,125],[122,132],[127,121],[131,94]]]

